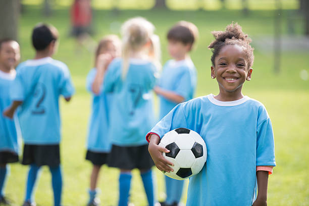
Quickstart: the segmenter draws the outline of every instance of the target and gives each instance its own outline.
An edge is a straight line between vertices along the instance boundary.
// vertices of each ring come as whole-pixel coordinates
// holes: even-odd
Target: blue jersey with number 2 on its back
[[[23,62],[16,70],[11,98],[23,101],[18,116],[24,142],[59,144],[59,97],[74,93],[69,69],[47,57]]]

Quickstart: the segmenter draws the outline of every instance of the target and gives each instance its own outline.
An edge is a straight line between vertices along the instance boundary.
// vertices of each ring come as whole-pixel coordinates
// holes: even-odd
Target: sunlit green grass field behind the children
[[[284,11],[283,35],[287,35],[286,19],[291,11]],[[218,85],[210,78],[211,51],[207,48],[213,39],[212,30],[222,30],[232,21],[238,22],[253,39],[270,38],[273,35],[274,12],[253,11],[248,17],[237,10],[223,11],[94,11],[94,38],[111,33],[114,26],[127,18],[143,16],[156,25],[157,34],[162,42],[162,59],[167,61],[167,40],[165,35],[171,25],[179,20],[191,21],[197,25],[200,38],[197,48],[192,52],[192,60],[198,70],[196,96],[218,93]],[[20,20],[20,43],[22,60],[33,58],[30,33],[37,22],[54,24],[60,31],[60,46],[55,59],[65,62],[72,73],[76,95],[69,104],[61,100],[63,120],[63,141],[61,144],[62,167],[64,174],[64,205],[85,205],[91,165],[84,160],[85,139],[90,111],[90,95],[85,90],[85,77],[93,65],[93,55],[86,49],[75,52],[75,41],[68,37],[70,21],[67,8],[54,11],[54,16],[44,18],[37,6],[26,6]],[[294,18],[295,34],[302,33],[302,19]],[[111,30],[112,28],[112,30]],[[267,45],[266,45],[267,47]],[[269,179],[269,205],[309,205],[309,81],[300,78],[302,70],[308,70],[309,51],[291,48],[282,54],[281,72],[273,72],[272,48],[255,49],[252,80],[246,82],[243,93],[258,99],[266,106],[273,122],[277,167]],[[158,197],[162,200],[164,192],[163,174],[157,169]],[[146,205],[138,171],[133,172],[130,201],[135,205]],[[20,205],[25,193],[27,167],[14,164],[7,184],[7,193]],[[104,167],[99,179],[101,198],[104,205],[116,205],[118,199],[118,170]],[[239,173],[241,175],[241,172]],[[52,205],[52,189],[48,168],[44,167],[35,194],[40,205]],[[186,195],[183,197],[183,202]]]

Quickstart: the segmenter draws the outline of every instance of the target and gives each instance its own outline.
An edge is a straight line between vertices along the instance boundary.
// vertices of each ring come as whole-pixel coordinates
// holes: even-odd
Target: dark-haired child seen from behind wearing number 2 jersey
[[[67,66],[51,57],[57,49],[58,31],[53,26],[37,25],[32,32],[36,50],[33,60],[21,63],[11,89],[12,106],[5,115],[18,117],[24,140],[22,164],[30,165],[24,206],[35,205],[33,188],[43,165],[52,173],[54,204],[61,204],[62,174],[60,168],[60,95],[69,101],[74,93]]]

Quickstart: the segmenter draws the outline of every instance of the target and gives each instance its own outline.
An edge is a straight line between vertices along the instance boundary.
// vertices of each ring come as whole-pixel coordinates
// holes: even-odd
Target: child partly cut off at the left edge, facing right
[[[13,85],[15,67],[20,61],[19,44],[12,39],[0,40],[0,205],[10,205],[5,197],[5,183],[9,173],[8,163],[18,162],[18,137],[15,122],[2,116],[11,104],[10,88]]]

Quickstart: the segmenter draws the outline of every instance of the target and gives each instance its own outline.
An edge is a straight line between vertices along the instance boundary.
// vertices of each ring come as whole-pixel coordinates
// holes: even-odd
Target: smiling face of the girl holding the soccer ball
[[[252,69],[247,69],[248,61],[239,45],[226,45],[221,48],[212,66],[212,77],[219,83],[220,93],[240,94],[244,81],[250,80]]]

